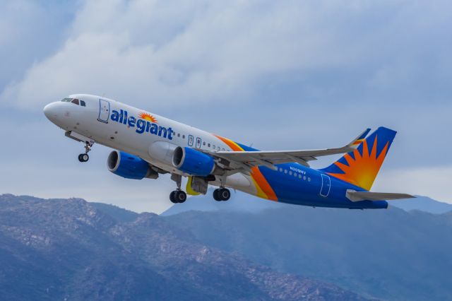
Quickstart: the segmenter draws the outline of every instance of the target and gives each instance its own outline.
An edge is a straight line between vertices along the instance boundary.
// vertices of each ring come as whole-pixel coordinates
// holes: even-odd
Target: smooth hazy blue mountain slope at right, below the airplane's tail
[[[166,216],[259,264],[385,300],[452,300],[452,216],[280,205]]]

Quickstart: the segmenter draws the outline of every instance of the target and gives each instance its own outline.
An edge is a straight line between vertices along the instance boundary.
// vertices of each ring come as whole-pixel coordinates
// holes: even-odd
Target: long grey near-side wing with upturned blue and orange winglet
[[[366,129],[353,139],[346,146],[340,148],[326,148],[319,150],[301,150],[301,151],[218,151],[209,152],[209,155],[226,160],[237,168],[245,168],[249,170],[254,166],[266,166],[276,170],[275,164],[282,163],[299,163],[309,167],[308,162],[317,160],[317,157],[323,155],[335,155],[340,153],[348,153],[355,150],[363,139],[369,134],[370,129]]]

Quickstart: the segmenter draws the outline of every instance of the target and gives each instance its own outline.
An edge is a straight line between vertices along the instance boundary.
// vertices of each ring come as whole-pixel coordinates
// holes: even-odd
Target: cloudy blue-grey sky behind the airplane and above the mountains
[[[0,194],[171,206],[169,177],[117,177],[100,145],[78,163],[42,114],[90,93],[262,150],[388,126],[373,190],[452,203],[450,28],[445,0],[0,0]]]

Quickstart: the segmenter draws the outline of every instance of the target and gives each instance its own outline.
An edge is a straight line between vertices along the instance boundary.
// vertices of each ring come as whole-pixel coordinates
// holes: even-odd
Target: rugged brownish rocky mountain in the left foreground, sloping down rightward
[[[185,225],[108,206],[1,195],[1,299],[364,300],[210,247]]]

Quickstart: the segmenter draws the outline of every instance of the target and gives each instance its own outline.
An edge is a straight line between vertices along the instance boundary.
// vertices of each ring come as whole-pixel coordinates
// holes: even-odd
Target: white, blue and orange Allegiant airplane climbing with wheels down
[[[371,186],[396,136],[379,127],[366,129],[339,148],[296,151],[258,151],[229,138],[210,134],[145,110],[96,95],[69,95],[44,107],[65,136],[82,142],[82,163],[94,143],[113,148],[110,172],[126,179],[157,179],[170,174],[176,189],[172,203],[184,203],[187,193],[206,194],[215,201],[230,199],[230,189],[270,201],[313,207],[388,208],[387,200],[410,194],[371,192]],[[309,161],[325,155],[343,156],[316,170]],[[187,177],[186,192],[182,177]]]

